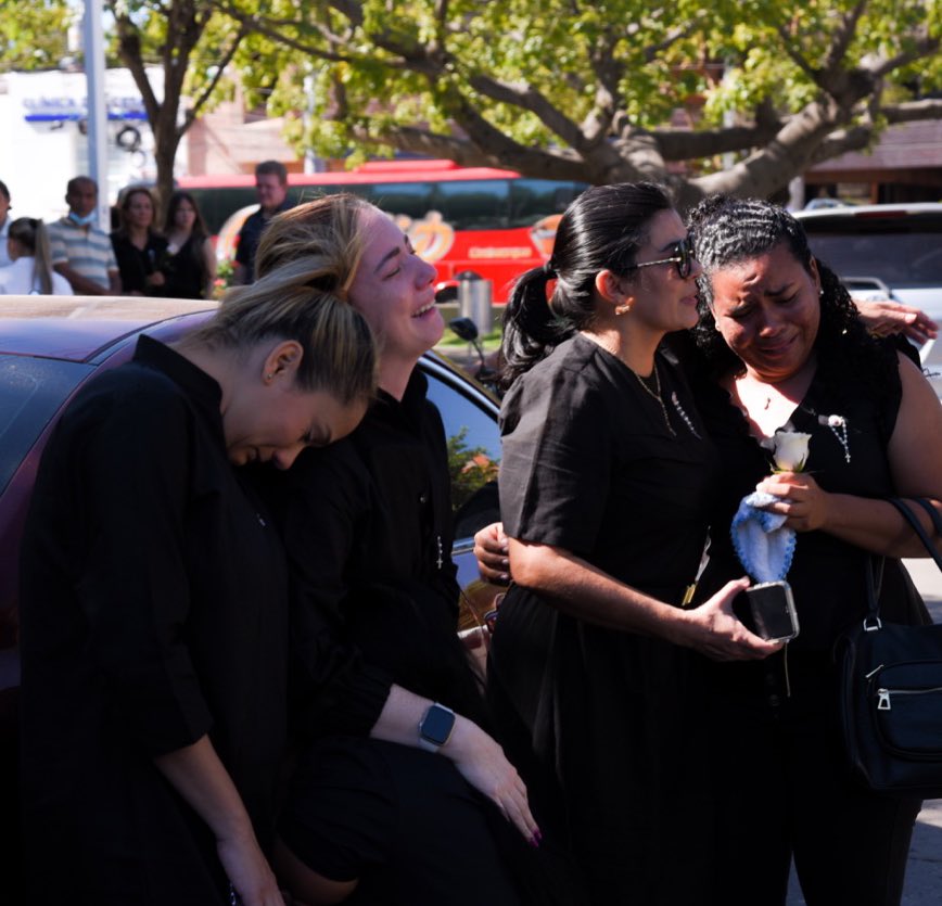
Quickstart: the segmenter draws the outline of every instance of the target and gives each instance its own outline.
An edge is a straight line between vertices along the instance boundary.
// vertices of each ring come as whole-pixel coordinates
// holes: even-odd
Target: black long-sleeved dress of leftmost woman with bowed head
[[[213,834],[153,763],[207,732],[271,837],[287,570],[219,404],[213,379],[142,337],[43,455],[21,597],[29,903],[228,903]]]

